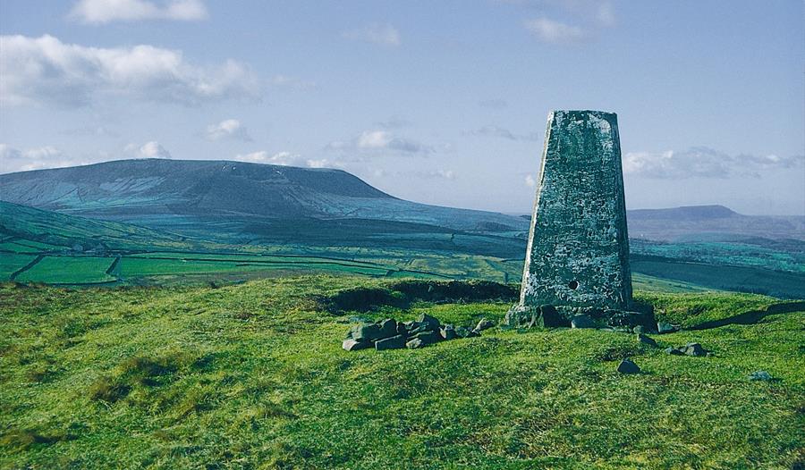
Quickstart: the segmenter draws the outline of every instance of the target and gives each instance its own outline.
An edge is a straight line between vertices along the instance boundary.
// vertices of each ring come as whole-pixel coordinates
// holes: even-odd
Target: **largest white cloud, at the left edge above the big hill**
[[[90,105],[97,97],[131,96],[198,105],[258,96],[258,80],[232,60],[189,63],[182,51],[154,46],[87,47],[52,36],[0,36],[0,103]]]

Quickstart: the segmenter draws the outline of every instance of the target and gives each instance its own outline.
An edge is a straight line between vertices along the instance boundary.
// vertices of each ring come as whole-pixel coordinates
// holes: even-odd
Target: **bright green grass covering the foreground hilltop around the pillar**
[[[218,289],[0,286],[0,467],[791,468],[805,459],[805,313],[657,336],[502,331],[348,353],[355,315],[470,325],[484,301],[330,315],[388,286],[303,276]],[[640,293],[699,324],[775,300]],[[614,372],[632,357],[638,375]],[[767,370],[775,382],[749,382]]]

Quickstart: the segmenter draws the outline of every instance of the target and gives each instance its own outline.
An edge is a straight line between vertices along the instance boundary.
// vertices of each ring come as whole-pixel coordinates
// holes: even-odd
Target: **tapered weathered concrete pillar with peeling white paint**
[[[554,111],[548,115],[520,304],[507,320],[521,325],[531,318],[533,324],[534,311],[543,306],[556,307],[567,319],[590,309],[628,310],[631,303],[617,116]]]

